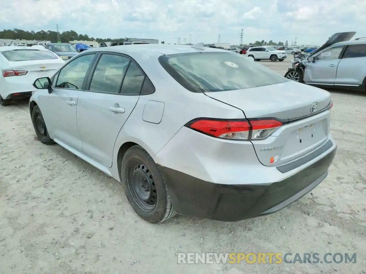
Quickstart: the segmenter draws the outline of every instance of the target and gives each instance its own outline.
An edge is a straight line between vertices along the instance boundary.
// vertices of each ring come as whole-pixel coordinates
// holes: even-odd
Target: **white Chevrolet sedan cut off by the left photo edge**
[[[0,104],[8,106],[11,100],[29,98],[34,80],[51,77],[64,64],[59,56],[41,46],[0,47]]]

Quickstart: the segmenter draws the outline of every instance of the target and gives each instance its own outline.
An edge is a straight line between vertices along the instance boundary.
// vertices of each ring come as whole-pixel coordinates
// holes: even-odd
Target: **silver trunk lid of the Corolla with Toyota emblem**
[[[247,90],[206,92],[207,96],[237,107],[250,118],[276,118],[284,122],[271,136],[251,141],[263,165],[297,159],[329,138],[330,94],[319,88],[289,81]],[[316,110],[311,113],[313,104]]]

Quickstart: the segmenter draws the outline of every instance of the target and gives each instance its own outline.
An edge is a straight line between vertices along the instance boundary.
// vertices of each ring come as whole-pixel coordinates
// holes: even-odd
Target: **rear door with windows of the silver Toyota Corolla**
[[[128,56],[103,53],[78,98],[82,150],[106,167],[122,126],[135,108],[145,74]]]

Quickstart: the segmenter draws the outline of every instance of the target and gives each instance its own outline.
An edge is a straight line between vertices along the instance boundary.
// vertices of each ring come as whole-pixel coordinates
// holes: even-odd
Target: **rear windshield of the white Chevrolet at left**
[[[1,52],[1,53],[8,61],[11,61],[11,62],[30,61],[30,60],[48,60],[48,59],[59,58],[48,50],[38,50],[38,49],[5,50],[4,52]]]

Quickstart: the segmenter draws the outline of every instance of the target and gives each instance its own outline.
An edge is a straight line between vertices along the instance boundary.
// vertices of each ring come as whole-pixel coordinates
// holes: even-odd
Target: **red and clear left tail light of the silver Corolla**
[[[262,140],[270,136],[283,124],[274,119],[224,120],[198,118],[186,126],[212,137],[250,141]]]

